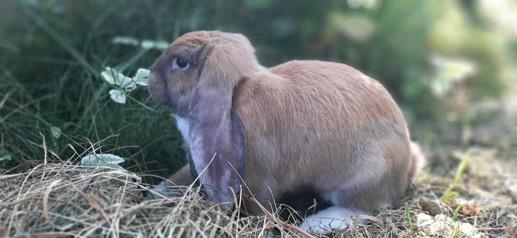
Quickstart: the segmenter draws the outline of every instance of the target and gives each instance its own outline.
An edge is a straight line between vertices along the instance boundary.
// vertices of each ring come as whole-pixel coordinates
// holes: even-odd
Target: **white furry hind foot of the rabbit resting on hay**
[[[348,225],[352,224],[352,217],[366,214],[368,213],[360,210],[332,206],[305,218],[300,228],[315,234],[327,234],[332,229],[348,228]]]

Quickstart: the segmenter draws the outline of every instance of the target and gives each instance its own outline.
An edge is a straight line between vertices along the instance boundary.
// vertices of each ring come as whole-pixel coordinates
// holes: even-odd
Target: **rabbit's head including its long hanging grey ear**
[[[231,201],[224,194],[239,189],[246,143],[233,91],[243,77],[263,70],[245,36],[195,31],[165,49],[149,74],[151,97],[188,121],[191,167],[212,201]]]

